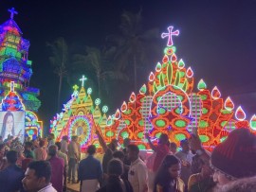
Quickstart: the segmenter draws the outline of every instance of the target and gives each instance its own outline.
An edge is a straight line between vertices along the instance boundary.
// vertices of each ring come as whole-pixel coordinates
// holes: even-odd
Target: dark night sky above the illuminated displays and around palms
[[[68,44],[101,46],[106,35],[119,30],[123,10],[137,12],[140,8],[145,28],[164,32],[173,25],[180,30],[174,38],[177,57],[192,66],[196,83],[204,79],[210,90],[217,85],[236,107],[242,105],[249,115],[256,113],[255,0],[1,0],[0,23],[9,19],[7,9],[12,7],[19,12],[14,20],[31,44],[29,60],[34,74],[30,85],[41,90],[39,116],[46,126],[57,112],[58,92],[58,77],[50,67],[46,42],[63,36]],[[155,63],[149,63],[144,71],[149,74]],[[147,82],[147,76],[139,76],[138,87]],[[127,83],[126,90],[113,90],[113,100],[108,98],[112,112],[134,91],[132,82]],[[70,94],[71,87],[64,82],[63,103]]]

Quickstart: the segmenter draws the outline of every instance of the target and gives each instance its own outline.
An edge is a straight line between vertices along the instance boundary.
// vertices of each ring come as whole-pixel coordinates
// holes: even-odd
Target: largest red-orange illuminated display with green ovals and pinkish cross
[[[145,132],[149,132],[154,141],[165,132],[177,145],[191,133],[198,133],[203,146],[211,150],[223,142],[230,131],[248,127],[243,109],[239,107],[234,112],[230,97],[224,102],[216,86],[210,91],[201,79],[197,83],[198,91],[192,92],[193,71],[191,67],[186,69],[184,61],[177,60],[172,36],[179,32],[173,28],[170,26],[169,33],[162,34],[162,38],[168,37],[162,63],[157,62],[155,72],[150,73],[148,83],[141,87],[139,94],[132,93],[129,102],[122,103],[120,115],[114,115],[114,118],[120,117],[109,121],[105,128],[112,132],[111,137],[104,135],[106,140],[116,137],[122,142],[129,137],[140,149],[145,149],[149,148],[141,137]],[[255,115],[251,117],[250,129],[256,132]]]

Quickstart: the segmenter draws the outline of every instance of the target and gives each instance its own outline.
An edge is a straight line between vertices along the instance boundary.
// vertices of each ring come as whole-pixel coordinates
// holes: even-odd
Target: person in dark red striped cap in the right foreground
[[[256,176],[256,136],[247,128],[229,133],[228,138],[218,144],[211,155],[202,148],[200,139],[191,138],[191,148],[204,160],[210,161],[216,188],[242,178]]]

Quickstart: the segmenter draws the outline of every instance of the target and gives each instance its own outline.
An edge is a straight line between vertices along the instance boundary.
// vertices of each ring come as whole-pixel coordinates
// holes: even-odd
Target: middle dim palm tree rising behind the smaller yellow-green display
[[[112,50],[86,46],[85,54],[76,54],[73,57],[74,66],[92,71],[95,74],[99,97],[101,97],[101,82],[105,82],[106,79],[128,79],[119,70],[114,70],[113,67],[109,66],[112,53]]]

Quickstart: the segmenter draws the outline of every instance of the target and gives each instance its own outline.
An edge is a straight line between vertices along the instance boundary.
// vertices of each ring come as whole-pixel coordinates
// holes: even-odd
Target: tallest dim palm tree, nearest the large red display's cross
[[[157,40],[160,37],[158,29],[143,30],[141,9],[137,13],[123,11],[121,14],[121,36],[109,36],[108,41],[117,46],[115,60],[124,70],[130,63],[134,68],[134,87],[137,91],[137,68],[142,66],[155,51],[159,50]],[[154,51],[154,52],[153,52]]]

